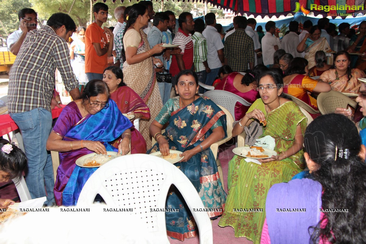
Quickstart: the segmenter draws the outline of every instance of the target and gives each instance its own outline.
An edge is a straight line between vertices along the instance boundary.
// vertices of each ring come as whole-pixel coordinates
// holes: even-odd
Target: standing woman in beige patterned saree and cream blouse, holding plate
[[[154,64],[161,67],[160,60],[152,57],[161,53],[165,48],[163,43],[150,49],[146,34],[142,27],[149,22],[147,8],[142,4],[132,5],[123,35],[123,46],[126,53],[126,61],[123,64],[123,82],[133,89],[145,104],[150,108],[151,118],[155,118],[163,108],[159,88],[156,82]],[[139,131],[145,138],[147,148],[151,147],[149,126],[151,121],[142,119]]]

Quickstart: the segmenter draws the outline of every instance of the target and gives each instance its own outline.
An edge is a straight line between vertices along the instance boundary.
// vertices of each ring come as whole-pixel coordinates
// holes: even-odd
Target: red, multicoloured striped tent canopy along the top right
[[[107,0],[103,0],[106,2]],[[112,0],[113,3],[116,0]],[[122,3],[124,0],[120,0]],[[160,0],[156,0],[160,1]],[[171,0],[172,1],[172,0]],[[179,1],[179,0],[178,0]],[[182,0],[183,2],[185,0]],[[190,1],[190,0],[188,0]],[[204,0],[191,0],[191,1],[204,1]],[[366,7],[365,7],[365,0],[208,0],[209,3],[221,7],[223,9],[230,9],[235,12],[239,12],[241,14],[246,13],[247,15],[253,14],[254,17],[268,15],[272,17],[273,15],[277,18],[280,15],[287,15],[287,14],[295,14],[293,11],[296,10],[296,3],[300,3],[300,6],[303,5],[307,10],[314,12],[314,15],[323,15],[327,16],[328,13],[330,16],[334,14],[347,14],[350,13],[353,16],[361,13],[366,15]],[[311,4],[317,4],[317,6],[348,6],[359,5],[363,6],[364,10],[359,9],[351,10],[350,7],[347,10],[311,10]],[[333,7],[333,8],[335,8]],[[338,7],[339,8],[339,7]],[[325,8],[324,8],[325,9]],[[336,16],[332,16],[334,19]],[[341,16],[342,18],[346,18],[346,15]]]

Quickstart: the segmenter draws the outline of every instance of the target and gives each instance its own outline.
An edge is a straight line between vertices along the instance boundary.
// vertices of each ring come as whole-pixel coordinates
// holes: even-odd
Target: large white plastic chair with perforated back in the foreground
[[[169,244],[164,212],[170,186],[182,194],[190,209],[204,209],[201,198],[190,180],[168,161],[148,155],[131,154],[112,159],[94,172],[85,183],[77,206],[93,203],[100,194],[107,205],[132,208],[130,214],[142,219],[136,226],[141,233],[148,232],[153,243]],[[199,242],[213,243],[212,224],[205,212],[192,211],[199,230]]]

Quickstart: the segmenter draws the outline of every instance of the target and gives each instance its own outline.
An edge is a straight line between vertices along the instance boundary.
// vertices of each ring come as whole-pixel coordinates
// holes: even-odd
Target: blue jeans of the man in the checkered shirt
[[[25,181],[32,199],[46,196],[46,205],[55,202],[53,188],[53,168],[51,153],[46,150],[46,142],[52,129],[52,114],[44,108],[36,108],[21,113],[11,113],[10,117],[22,132],[28,172]],[[45,189],[46,188],[46,189]]]

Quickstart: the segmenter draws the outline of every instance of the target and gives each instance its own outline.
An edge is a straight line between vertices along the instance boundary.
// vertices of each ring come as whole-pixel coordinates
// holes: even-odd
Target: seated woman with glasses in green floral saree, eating
[[[294,102],[283,97],[283,81],[279,72],[269,70],[259,76],[258,99],[247,114],[236,123],[232,135],[244,131],[254,120],[266,121],[263,135],[274,139],[276,156],[258,159],[261,165],[246,162],[235,155],[229,162],[228,198],[219,225],[232,226],[235,237],[246,237],[254,244],[260,243],[265,213],[260,210],[238,212],[233,209],[264,209],[269,188],[291,180],[305,167],[303,158],[303,135],[307,119]]]

